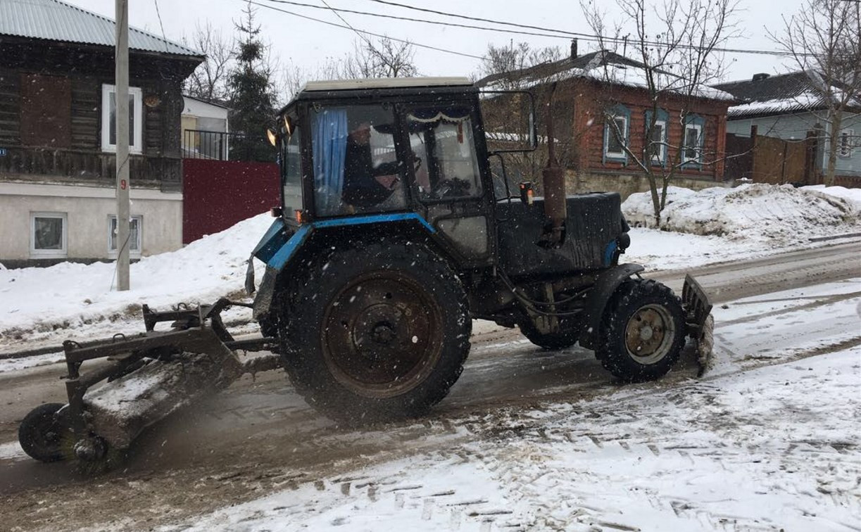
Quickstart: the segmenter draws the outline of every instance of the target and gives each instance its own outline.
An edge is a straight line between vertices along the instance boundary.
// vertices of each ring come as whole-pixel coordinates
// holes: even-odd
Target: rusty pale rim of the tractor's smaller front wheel
[[[675,336],[675,322],[665,307],[641,306],[625,327],[625,349],[636,362],[655,364],[670,353]]]

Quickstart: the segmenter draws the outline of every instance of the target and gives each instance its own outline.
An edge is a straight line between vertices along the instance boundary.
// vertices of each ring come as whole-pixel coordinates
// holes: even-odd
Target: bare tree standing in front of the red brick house
[[[610,61],[597,65],[597,78],[602,82],[600,112],[610,133],[621,145],[627,158],[647,178],[652,195],[655,223],[666,206],[666,192],[678,170],[696,158],[703,165],[716,164],[723,154],[706,152],[702,134],[689,138],[692,108],[698,98],[716,96],[709,84],[723,75],[724,60],[719,48],[737,35],[734,28],[736,0],[616,0],[622,12],[620,22],[607,25],[608,17],[596,4],[581,0],[586,21],[598,34],[602,50],[630,55],[641,63],[620,68]],[[600,58],[600,54],[598,56]],[[625,134],[613,107],[614,90],[625,85],[644,88],[648,96],[646,128]],[[660,115],[672,109],[665,124]],[[682,131],[681,143],[672,145],[667,129],[671,121]],[[623,122],[621,122],[623,123]],[[694,130],[696,136],[696,130]],[[704,132],[703,132],[704,133]],[[635,135],[641,134],[640,139]],[[642,146],[642,150],[633,146]],[[659,156],[663,155],[659,159]],[[659,164],[660,163],[660,164]],[[660,190],[659,190],[660,187]]]

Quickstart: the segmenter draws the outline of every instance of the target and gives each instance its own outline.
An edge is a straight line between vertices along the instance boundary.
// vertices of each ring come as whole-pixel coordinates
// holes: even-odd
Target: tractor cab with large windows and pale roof
[[[308,83],[277,126],[291,226],[418,224],[462,262],[490,262],[492,182],[467,78]]]

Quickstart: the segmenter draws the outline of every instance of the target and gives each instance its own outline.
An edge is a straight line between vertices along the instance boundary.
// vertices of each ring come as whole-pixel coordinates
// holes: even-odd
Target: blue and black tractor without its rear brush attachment
[[[699,336],[710,306],[696,281],[683,304],[619,263],[618,194],[566,196],[553,166],[544,197],[529,182],[511,194],[480,102],[466,78],[314,82],[269,131],[282,207],[252,254],[266,263],[254,314],[331,417],[428,411],[461,374],[473,319],[547,350],[579,342],[625,381],[666,374]]]

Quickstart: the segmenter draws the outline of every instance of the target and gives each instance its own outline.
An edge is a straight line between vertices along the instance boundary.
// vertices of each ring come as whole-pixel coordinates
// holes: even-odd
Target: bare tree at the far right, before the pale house
[[[807,0],[795,15],[784,17],[780,34],[770,33],[794,67],[807,71],[814,96],[825,107],[813,111],[827,124],[825,184],[834,182],[842,124],[857,116],[861,105],[861,3],[846,0]],[[805,95],[809,96],[809,95]],[[806,104],[812,102],[807,101]],[[858,144],[857,139],[846,139]]]

